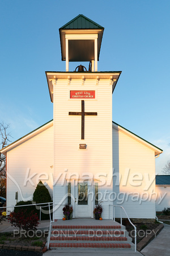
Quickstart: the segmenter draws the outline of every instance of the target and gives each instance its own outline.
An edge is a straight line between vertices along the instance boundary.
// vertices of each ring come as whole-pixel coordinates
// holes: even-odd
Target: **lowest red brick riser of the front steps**
[[[129,243],[50,243],[50,249],[55,247],[84,247],[84,248],[131,248]]]

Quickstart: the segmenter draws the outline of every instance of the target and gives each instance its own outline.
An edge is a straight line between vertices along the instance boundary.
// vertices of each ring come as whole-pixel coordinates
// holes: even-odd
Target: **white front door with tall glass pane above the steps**
[[[91,185],[78,181],[75,185],[75,217],[91,217]]]

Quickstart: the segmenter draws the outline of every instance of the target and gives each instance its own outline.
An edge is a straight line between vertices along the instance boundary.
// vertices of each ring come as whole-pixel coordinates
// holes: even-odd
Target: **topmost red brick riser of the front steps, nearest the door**
[[[121,229],[121,226],[119,225],[53,225],[53,229]]]

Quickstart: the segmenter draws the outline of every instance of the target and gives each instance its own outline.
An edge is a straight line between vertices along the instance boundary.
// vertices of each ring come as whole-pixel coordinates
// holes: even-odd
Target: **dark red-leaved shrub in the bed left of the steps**
[[[8,216],[11,226],[15,226],[19,229],[36,230],[39,225],[39,217],[33,211],[28,213],[27,209],[19,209],[18,212],[11,212]]]

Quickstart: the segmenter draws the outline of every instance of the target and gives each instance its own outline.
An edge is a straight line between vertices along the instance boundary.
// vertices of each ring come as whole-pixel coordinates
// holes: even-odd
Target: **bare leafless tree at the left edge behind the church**
[[[10,133],[8,133],[9,124],[0,123],[0,149],[4,148],[10,142]],[[0,196],[6,197],[6,156],[0,152]]]

